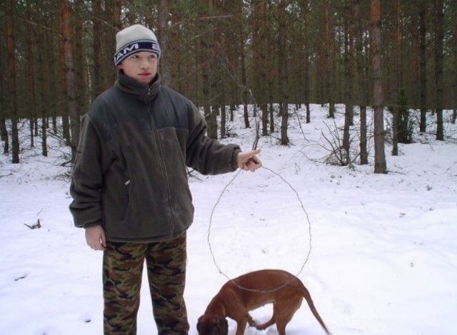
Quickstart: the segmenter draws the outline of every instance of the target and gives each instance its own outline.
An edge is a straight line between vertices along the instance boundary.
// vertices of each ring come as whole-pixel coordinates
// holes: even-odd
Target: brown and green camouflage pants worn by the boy
[[[186,234],[164,242],[107,242],[103,260],[104,334],[136,334],[145,259],[159,335],[186,335]]]

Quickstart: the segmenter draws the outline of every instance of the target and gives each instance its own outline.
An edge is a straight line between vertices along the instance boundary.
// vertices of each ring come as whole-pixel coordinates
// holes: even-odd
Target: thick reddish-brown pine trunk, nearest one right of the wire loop
[[[383,88],[381,81],[381,4],[371,0],[371,67],[374,98],[374,172],[386,173],[384,152]]]

